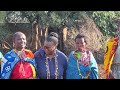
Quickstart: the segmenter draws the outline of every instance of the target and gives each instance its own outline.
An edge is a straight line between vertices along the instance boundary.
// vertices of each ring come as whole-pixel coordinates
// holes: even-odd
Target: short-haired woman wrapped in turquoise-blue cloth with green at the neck
[[[86,37],[78,34],[76,50],[68,57],[67,79],[98,79],[98,66],[93,54],[86,49]]]

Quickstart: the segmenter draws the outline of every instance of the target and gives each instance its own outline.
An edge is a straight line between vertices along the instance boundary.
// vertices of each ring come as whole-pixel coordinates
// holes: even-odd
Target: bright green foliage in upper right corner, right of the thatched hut
[[[113,19],[120,17],[119,11],[89,11],[87,14],[89,17],[93,18],[96,25],[105,36],[113,36],[115,34],[116,25],[113,23]]]

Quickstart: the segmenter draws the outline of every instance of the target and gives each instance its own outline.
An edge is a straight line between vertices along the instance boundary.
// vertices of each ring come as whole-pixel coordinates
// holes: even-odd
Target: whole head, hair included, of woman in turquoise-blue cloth
[[[75,37],[76,49],[79,51],[84,51],[86,49],[87,41],[84,35],[78,34]]]

